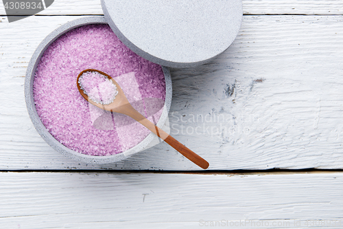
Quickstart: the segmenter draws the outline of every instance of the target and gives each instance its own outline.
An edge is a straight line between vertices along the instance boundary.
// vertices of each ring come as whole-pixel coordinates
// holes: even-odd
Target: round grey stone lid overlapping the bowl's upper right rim
[[[168,67],[206,63],[238,34],[241,0],[102,0],[118,38],[143,58]]]

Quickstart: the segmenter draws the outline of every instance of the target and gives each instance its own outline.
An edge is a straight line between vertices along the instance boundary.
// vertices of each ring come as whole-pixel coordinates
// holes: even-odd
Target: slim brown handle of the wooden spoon
[[[178,151],[179,153],[187,157],[189,160],[191,160],[191,162],[193,162],[194,164],[204,169],[209,168],[209,162],[206,162],[204,158],[200,157],[198,154],[188,149],[185,145],[178,142],[178,140],[171,137],[171,135],[163,131],[163,129],[156,127],[152,122],[150,122],[150,120],[145,118],[141,113],[139,113],[136,109],[134,109],[130,104],[126,104],[121,108],[124,108],[124,109],[121,109],[119,113],[123,113],[126,116],[130,116],[137,122],[141,123],[144,127],[152,131],[152,133],[156,134],[159,138],[167,142],[169,146],[173,147],[174,149],[176,149],[176,151]]]

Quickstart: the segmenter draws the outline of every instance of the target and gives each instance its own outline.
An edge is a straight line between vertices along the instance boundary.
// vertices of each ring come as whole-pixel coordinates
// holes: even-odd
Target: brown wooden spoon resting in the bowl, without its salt
[[[84,91],[81,89],[78,83],[80,76],[82,76],[82,74],[84,74],[85,72],[99,72],[99,74],[107,76],[108,79],[112,80],[112,82],[117,86],[117,91],[118,91],[118,94],[112,103],[110,103],[109,105],[101,105],[97,102],[94,102],[93,100],[88,100],[88,96],[84,94]],[[147,118],[141,115],[141,113],[136,111],[136,109],[134,109],[132,105],[130,105],[130,102],[128,102],[128,99],[126,98],[125,94],[123,93],[123,90],[118,85],[118,83],[112,77],[108,76],[108,74],[104,72],[100,72],[96,69],[86,69],[80,72],[80,74],[78,75],[78,78],[76,79],[76,84],[78,85],[78,89],[82,97],[88,102],[91,102],[92,105],[95,105],[96,107],[99,107],[106,111],[123,113],[126,116],[130,116],[137,122],[141,123],[144,127],[152,131],[152,133],[156,134],[159,138],[167,142],[171,147],[176,149],[179,153],[181,153],[182,155],[187,157],[189,160],[191,160],[191,162],[194,162],[196,165],[200,166],[201,168],[204,168],[204,169],[209,168],[209,162],[206,162],[206,160],[204,160],[198,154],[188,149],[186,146],[178,142],[178,140],[171,137],[171,135],[169,135],[162,129],[156,127],[152,122],[150,122],[149,120],[147,120]]]

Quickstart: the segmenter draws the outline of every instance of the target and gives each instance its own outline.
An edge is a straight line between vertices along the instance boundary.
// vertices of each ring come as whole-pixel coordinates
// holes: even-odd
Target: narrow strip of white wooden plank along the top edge
[[[244,14],[342,14],[343,2],[340,0],[243,0]],[[55,0],[38,15],[80,15],[103,14],[100,0],[68,1]],[[0,15],[5,8],[0,2]]]

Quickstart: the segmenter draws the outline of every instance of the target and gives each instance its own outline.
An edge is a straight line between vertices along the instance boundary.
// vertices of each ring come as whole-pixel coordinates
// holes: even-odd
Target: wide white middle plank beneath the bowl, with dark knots
[[[27,115],[23,83],[38,43],[78,17],[0,23],[0,169],[198,170],[164,142],[117,164],[73,162]],[[206,65],[171,69],[171,135],[209,169],[343,168],[343,17],[246,16]]]

